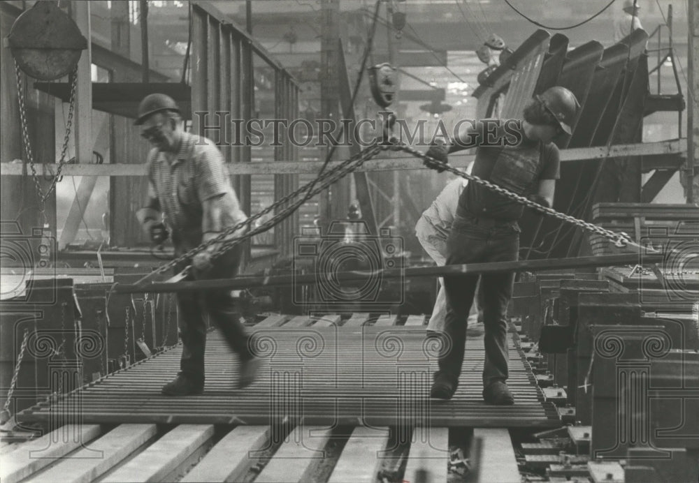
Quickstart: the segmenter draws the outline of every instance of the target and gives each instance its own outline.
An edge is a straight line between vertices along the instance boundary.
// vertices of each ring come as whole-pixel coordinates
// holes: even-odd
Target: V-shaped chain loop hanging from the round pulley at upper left
[[[59,158],[58,168],[56,174],[51,179],[51,184],[48,187],[48,191],[44,193],[41,188],[41,183],[38,179],[38,174],[36,174],[36,166],[34,165],[34,154],[31,151],[31,142],[29,140],[29,129],[27,128],[27,106],[24,99],[24,88],[22,87],[22,77],[20,64],[17,63],[15,59],[15,75],[17,77],[17,100],[20,103],[20,124],[22,127],[22,141],[24,142],[24,153],[27,155],[27,161],[29,161],[29,168],[31,168],[31,177],[34,180],[34,186],[36,186],[36,193],[39,197],[40,210],[43,213],[44,205],[48,197],[51,195],[52,191],[56,187],[56,183],[61,176],[61,171],[64,165],[66,165],[66,152],[68,151],[68,146],[71,138],[71,127],[73,126],[73,112],[75,108],[75,91],[78,86],[78,66],[73,68],[73,71],[69,74],[71,78],[71,97],[70,106],[68,110],[68,120],[66,121],[66,135],[63,139],[63,147],[61,148],[61,158]],[[42,163],[43,168],[46,169],[46,164]]]

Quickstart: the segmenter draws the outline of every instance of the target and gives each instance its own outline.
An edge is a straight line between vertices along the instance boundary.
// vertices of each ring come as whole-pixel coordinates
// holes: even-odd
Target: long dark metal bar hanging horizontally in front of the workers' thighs
[[[663,255],[640,255],[629,253],[624,255],[600,255],[592,257],[560,258],[556,260],[518,260],[512,262],[465,263],[461,265],[445,265],[444,267],[415,267],[406,269],[356,270],[338,272],[338,281],[366,281],[367,278],[408,278],[408,277],[438,277],[465,274],[491,274],[498,272],[531,272],[537,270],[552,270],[582,267],[613,267],[639,262],[660,262]],[[317,274],[289,274],[278,276],[239,276],[215,280],[198,280],[183,282],[157,282],[145,285],[115,285],[115,292],[184,292],[187,290],[203,290],[208,288],[230,288],[231,290],[268,287],[276,285],[295,285],[317,283]]]

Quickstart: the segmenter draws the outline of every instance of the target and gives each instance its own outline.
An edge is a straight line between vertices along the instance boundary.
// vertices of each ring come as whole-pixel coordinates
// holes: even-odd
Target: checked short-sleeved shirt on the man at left
[[[150,196],[159,201],[175,234],[201,239],[202,203],[219,195],[230,195],[235,206],[224,216],[224,227],[247,218],[231,186],[221,151],[211,140],[182,133],[180,150],[171,161],[155,148],[150,151],[147,172]]]

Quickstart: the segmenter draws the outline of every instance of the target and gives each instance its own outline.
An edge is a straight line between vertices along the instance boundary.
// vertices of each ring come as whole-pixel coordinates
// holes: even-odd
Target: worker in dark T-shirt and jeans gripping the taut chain
[[[427,155],[446,163],[448,154],[476,147],[473,175],[551,207],[560,172],[559,149],[552,140],[561,133],[572,133],[578,110],[579,104],[572,92],[552,87],[526,105],[523,119],[503,119],[494,126],[490,123],[486,126],[485,121],[462,123],[449,144],[435,144]],[[494,138],[493,127],[496,128]],[[442,165],[431,160],[426,160],[425,165],[444,170]],[[517,221],[523,211],[521,203],[469,181],[459,197],[447,239],[447,265],[517,260],[520,233]],[[483,398],[490,404],[512,404],[514,397],[506,382],[507,304],[512,297],[514,272],[445,276],[444,347],[431,396],[450,399],[459,385],[466,320],[479,278],[485,332]]]

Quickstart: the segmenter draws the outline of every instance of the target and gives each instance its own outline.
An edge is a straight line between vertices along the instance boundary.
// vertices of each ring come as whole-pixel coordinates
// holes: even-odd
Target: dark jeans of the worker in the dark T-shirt
[[[516,221],[456,216],[447,240],[447,265],[506,262],[519,257],[519,225]],[[439,360],[440,373],[459,380],[466,345],[466,320],[473,304],[479,275],[445,276],[447,316],[445,343],[450,345]],[[485,361],[483,384],[507,380],[507,304],[512,297],[514,272],[482,274]]]

